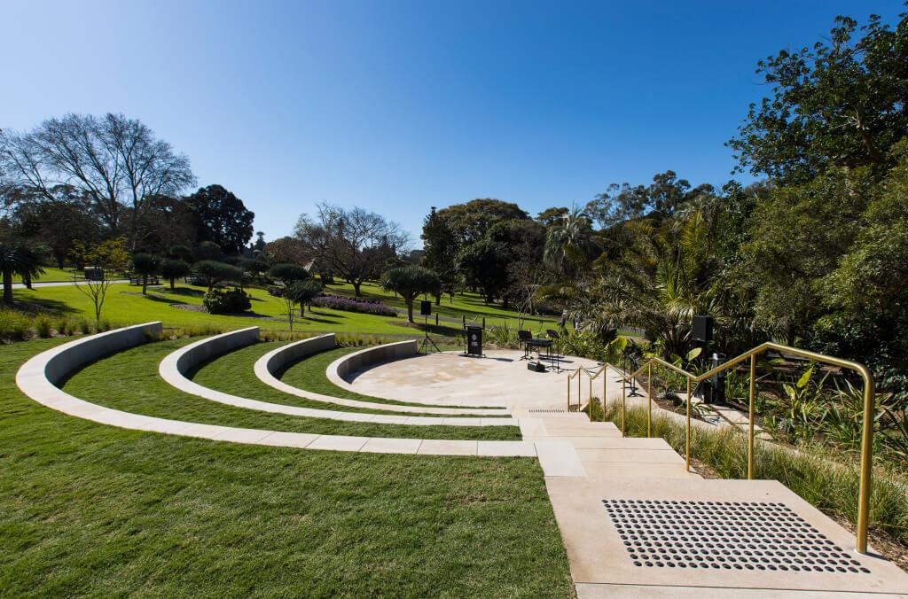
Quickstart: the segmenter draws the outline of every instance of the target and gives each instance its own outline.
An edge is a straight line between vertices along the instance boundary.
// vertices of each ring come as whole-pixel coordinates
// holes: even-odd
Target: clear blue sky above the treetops
[[[121,112],[275,239],[318,201],[400,221],[472,198],[536,213],[676,171],[721,185],[758,59],[840,2],[5,0],[0,127]]]

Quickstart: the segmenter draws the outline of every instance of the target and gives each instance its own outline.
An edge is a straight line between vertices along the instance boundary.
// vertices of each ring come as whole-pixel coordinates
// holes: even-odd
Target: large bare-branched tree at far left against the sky
[[[142,239],[150,198],[195,183],[189,159],[123,114],[67,114],[29,133],[0,132],[5,185],[29,187],[48,200],[55,185],[81,191],[112,235]]]

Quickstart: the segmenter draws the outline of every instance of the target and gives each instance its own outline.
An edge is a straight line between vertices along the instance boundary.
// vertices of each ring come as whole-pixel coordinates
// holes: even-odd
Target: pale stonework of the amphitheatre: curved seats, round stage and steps
[[[908,574],[872,548],[866,555],[857,553],[854,535],[787,487],[765,480],[706,480],[688,470],[685,459],[664,439],[624,437],[611,422],[591,422],[582,412],[568,411],[568,374],[531,372],[519,352],[489,351],[485,358],[453,352],[422,356],[415,340],[359,349],[335,359],[325,373],[341,391],[357,391],[359,399],[292,388],[280,379],[282,369],[294,361],[334,348],[332,334],[273,349],[246,374],[324,408],[243,398],[190,378],[206,361],[254,346],[258,332],[240,329],[183,345],[160,361],[160,377],[212,409],[226,404],[302,419],[393,425],[412,435],[360,437],[212,426],[107,408],[58,386],[78,368],[160,337],[159,322],[48,349],[25,362],[16,384],[46,408],[149,435],[292,451],[401,454],[412,460],[428,459],[426,455],[538,460],[579,597],[908,596]],[[566,358],[563,364],[596,366],[578,358]],[[620,374],[606,374],[614,393],[621,386]],[[361,398],[367,395],[374,401]],[[374,406],[389,405],[378,403],[381,398],[401,402],[398,409],[421,411],[370,412]],[[493,432],[493,427],[519,427],[521,438],[439,439],[420,433],[433,430],[431,426]]]

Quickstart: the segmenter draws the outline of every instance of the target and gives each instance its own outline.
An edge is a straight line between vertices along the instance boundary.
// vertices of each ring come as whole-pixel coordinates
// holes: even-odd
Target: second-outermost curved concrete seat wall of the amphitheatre
[[[174,388],[184,393],[204,399],[210,399],[235,408],[255,409],[275,414],[288,414],[311,418],[328,418],[348,422],[372,422],[378,424],[411,425],[417,427],[516,427],[516,418],[455,418],[426,416],[388,416],[383,414],[362,414],[341,412],[339,410],[301,408],[285,404],[272,404],[257,399],[240,398],[212,388],[203,387],[186,377],[186,373],[202,364],[205,360],[220,356],[231,349],[236,349],[255,342],[259,336],[258,327],[233,330],[222,335],[215,335],[191,343],[184,348],[168,354],[158,366],[158,374]],[[382,408],[384,409],[384,408]]]

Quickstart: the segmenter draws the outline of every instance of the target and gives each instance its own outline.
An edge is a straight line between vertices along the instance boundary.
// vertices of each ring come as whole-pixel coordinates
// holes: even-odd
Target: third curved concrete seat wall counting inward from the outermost
[[[410,412],[413,414],[437,414],[437,415],[473,415],[473,416],[508,416],[510,412],[507,409],[496,408],[442,408],[442,407],[419,407],[419,406],[401,406],[400,404],[384,404],[374,401],[361,401],[359,399],[336,398],[330,395],[322,395],[297,387],[292,387],[283,382],[280,378],[274,376],[274,373],[284,368],[287,364],[311,356],[312,354],[333,349],[337,347],[334,333],[302,339],[288,345],[272,349],[267,354],[255,362],[255,376],[265,385],[276,388],[282,393],[293,395],[298,398],[311,399],[312,401],[321,401],[335,404],[338,406],[350,406],[350,408],[380,409],[388,412]],[[359,352],[357,352],[359,353]],[[462,418],[461,418],[462,419]]]

